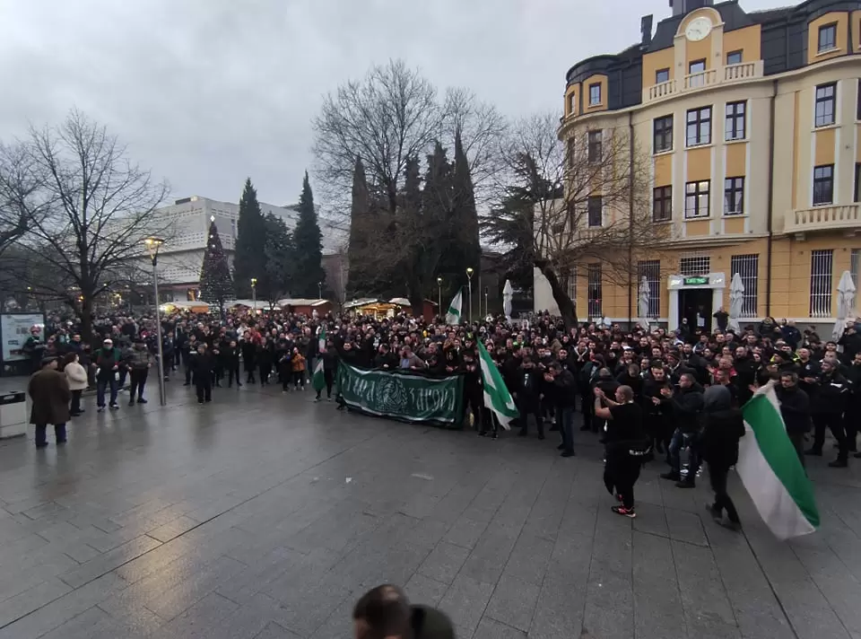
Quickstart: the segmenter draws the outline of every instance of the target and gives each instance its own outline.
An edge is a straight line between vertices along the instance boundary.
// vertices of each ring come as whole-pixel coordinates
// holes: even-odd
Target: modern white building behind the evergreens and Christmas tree
[[[260,211],[280,217],[287,228],[293,229],[299,220],[298,205],[274,206],[260,202]],[[170,206],[155,212],[154,228],[171,228],[171,236],[159,252],[159,286],[161,302],[195,300],[204,264],[207,234],[212,218],[218,226],[224,252],[232,267],[236,246],[239,204],[220,202],[209,197],[181,197]],[[329,256],[343,253],[344,234],[320,221],[323,232],[324,262]],[[150,268],[149,258],[142,258],[141,267]]]

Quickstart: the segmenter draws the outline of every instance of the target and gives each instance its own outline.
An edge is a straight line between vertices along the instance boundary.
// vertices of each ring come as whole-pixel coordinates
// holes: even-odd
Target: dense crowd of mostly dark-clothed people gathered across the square
[[[243,383],[305,390],[318,361],[325,387],[317,390],[317,400],[322,390],[333,398],[340,363],[458,374],[464,378],[465,423],[495,439],[500,420],[483,405],[477,349],[482,342],[517,403],[517,434],[529,436],[533,423],[538,439],[558,432],[561,456],[571,457],[579,414],[579,429],[595,433],[605,447],[605,483],[619,501],[613,509],[628,517],[636,516],[633,486],[644,463],[663,458],[668,469],[661,477],[690,488],[707,461],[716,493],[712,514],[722,521],[726,511],[727,525],[737,527],[726,476],[744,436],[740,407],[765,384],[775,387],[787,434],[803,464],[805,456],[822,456],[826,430],[837,444],[832,468],[846,468],[852,453],[859,457],[861,320],[849,322],[837,341],[771,318],[738,331],[685,325],[676,332],[571,326],[547,313],[526,322],[498,316],[455,326],[405,314],[378,319],[281,311],[172,315],[161,322],[166,378],[178,374],[195,387],[201,403],[212,399],[213,387]],[[63,372],[68,382],[68,416],[33,417],[39,426],[37,446],[47,445],[46,424],[65,424],[83,413],[81,395],[87,388],[96,390],[99,411],[119,409],[117,397],[126,381],[129,406],[146,402],[158,352],[155,320],[105,317],[95,322],[90,336],[79,331],[74,320],[54,318],[44,331],[34,327],[24,348],[37,368],[47,368],[47,377],[55,378],[48,383],[34,377],[37,389],[39,383],[53,388],[54,373]],[[326,336],[322,348],[321,334]],[[57,430],[57,442],[62,441],[65,426]]]

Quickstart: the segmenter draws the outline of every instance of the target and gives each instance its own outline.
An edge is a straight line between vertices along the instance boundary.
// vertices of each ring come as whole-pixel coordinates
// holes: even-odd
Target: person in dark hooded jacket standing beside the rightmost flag
[[[723,525],[724,510],[729,519],[729,528],[738,530],[741,521],[735,504],[726,493],[726,477],[729,469],[738,461],[738,441],[744,437],[742,411],[732,407],[733,398],[724,386],[711,386],[703,394],[702,435],[700,452],[709,464],[709,480],[715,491],[715,503],[709,512],[715,521]]]

